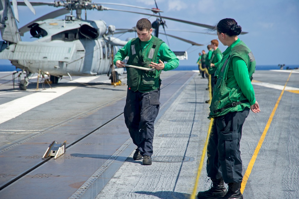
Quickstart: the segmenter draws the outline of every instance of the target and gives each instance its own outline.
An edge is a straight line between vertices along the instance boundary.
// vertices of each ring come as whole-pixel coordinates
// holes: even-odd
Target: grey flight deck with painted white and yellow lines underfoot
[[[0,73],[0,78],[9,73]],[[162,72],[152,165],[133,160],[125,126],[124,85],[106,75],[63,78],[27,91],[0,79],[0,199],[190,198],[209,189],[201,161],[210,120],[207,79],[194,71]],[[299,71],[256,71],[256,100],[240,143],[244,198],[299,198]],[[2,85],[1,85],[2,84]],[[42,158],[52,141],[66,152]],[[246,182],[245,182],[246,181]],[[245,183],[244,183],[245,182]]]

